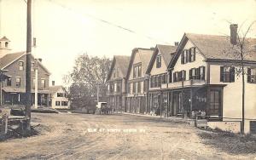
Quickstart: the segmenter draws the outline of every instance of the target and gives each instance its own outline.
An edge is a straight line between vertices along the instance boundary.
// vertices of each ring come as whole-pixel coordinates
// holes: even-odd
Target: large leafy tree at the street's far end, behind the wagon
[[[69,87],[73,107],[90,107],[96,102],[97,86],[103,97],[107,91],[107,76],[111,60],[88,54],[79,55],[75,60],[73,71],[63,77]]]

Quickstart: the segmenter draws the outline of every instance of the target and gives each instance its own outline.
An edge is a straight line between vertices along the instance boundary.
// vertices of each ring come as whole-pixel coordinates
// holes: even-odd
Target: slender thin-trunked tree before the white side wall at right
[[[251,30],[253,23],[247,28],[247,31],[243,32],[240,30],[237,33],[237,25],[230,25],[230,43],[233,45],[228,52],[234,58],[234,66],[236,66],[236,76],[242,78],[242,97],[241,97],[241,134],[244,134],[244,123],[245,123],[245,60],[250,60],[253,54],[255,54],[255,42],[252,42],[250,38],[247,38],[247,33]],[[242,25],[241,25],[242,26]],[[239,35],[241,31],[241,35]],[[226,51],[225,51],[226,52]]]

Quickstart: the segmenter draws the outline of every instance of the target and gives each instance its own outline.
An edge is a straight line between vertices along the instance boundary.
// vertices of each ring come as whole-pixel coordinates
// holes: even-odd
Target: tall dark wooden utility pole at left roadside
[[[28,129],[31,121],[31,52],[32,52],[32,23],[31,23],[31,4],[32,0],[27,0],[26,13],[26,117],[29,117]]]

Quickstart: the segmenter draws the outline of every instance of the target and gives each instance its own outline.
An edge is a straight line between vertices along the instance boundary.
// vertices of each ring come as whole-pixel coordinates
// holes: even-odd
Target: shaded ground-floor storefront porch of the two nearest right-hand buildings
[[[150,114],[185,119],[222,120],[224,85],[189,86],[148,94]]]

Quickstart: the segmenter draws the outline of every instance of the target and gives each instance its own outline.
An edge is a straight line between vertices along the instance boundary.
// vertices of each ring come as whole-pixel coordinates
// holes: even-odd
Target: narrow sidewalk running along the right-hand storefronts
[[[128,113],[128,112],[122,112],[122,114],[139,116],[139,117],[153,117],[153,118],[158,118],[163,122],[183,122],[183,123],[189,123],[189,124],[195,123],[195,119],[185,119],[182,117],[160,117],[160,116],[151,116],[148,114]]]

